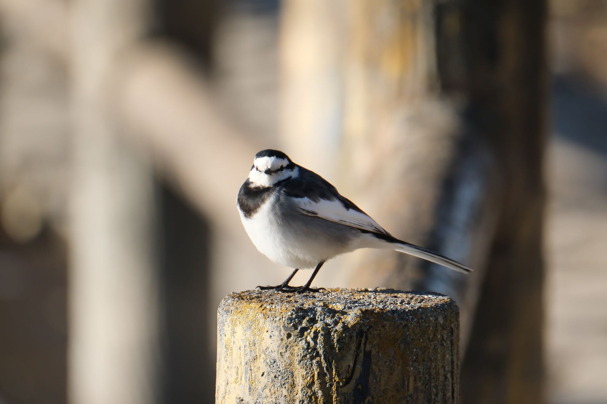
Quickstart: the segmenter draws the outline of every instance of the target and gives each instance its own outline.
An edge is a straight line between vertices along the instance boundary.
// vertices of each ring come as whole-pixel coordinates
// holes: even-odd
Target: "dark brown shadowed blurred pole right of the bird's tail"
[[[504,179],[489,271],[462,368],[466,403],[545,401],[547,7],[544,0],[503,0],[498,7],[469,1],[461,12],[470,105]]]

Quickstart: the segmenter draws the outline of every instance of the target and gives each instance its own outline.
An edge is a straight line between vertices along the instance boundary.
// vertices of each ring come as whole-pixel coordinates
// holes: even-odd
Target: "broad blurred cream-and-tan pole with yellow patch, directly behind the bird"
[[[330,150],[337,138],[342,153],[331,152],[329,160],[339,170],[342,193],[395,236],[477,268],[475,276],[465,277],[385,251],[357,253],[348,260],[351,286],[390,285],[452,296],[461,309],[465,343],[489,249],[487,234],[497,216],[492,211],[498,182],[492,153],[475,140],[455,104],[440,97],[432,2],[353,1],[341,6],[342,20],[334,22],[314,17],[333,15],[324,2],[285,2],[285,87],[300,88],[305,95],[297,98],[287,91],[283,108],[285,116],[308,121],[303,126],[286,122],[285,137],[293,137],[293,145],[307,144],[295,150],[310,150],[308,158],[314,161],[327,153],[325,143]],[[304,28],[316,29],[314,36],[320,38],[308,42]],[[341,42],[328,47],[335,41]],[[301,61],[296,50],[302,47],[308,59],[333,65],[321,70],[308,59]],[[332,48],[339,49],[341,58],[325,57]],[[311,70],[307,76],[306,69]],[[340,72],[341,93],[327,93],[322,85],[334,71]],[[301,76],[308,79],[305,87],[290,83]],[[315,104],[307,101],[314,94],[332,97],[341,108],[334,108],[334,116],[315,113]],[[319,134],[317,127],[327,127],[324,122],[339,124],[330,127],[333,132]]]

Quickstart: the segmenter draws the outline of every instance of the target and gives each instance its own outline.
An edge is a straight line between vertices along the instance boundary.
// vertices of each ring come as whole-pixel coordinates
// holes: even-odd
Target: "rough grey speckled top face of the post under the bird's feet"
[[[432,292],[404,292],[386,288],[331,288],[319,293],[285,293],[273,290],[248,290],[231,293],[222,300],[224,305],[259,305],[260,308],[320,308],[334,310],[409,311],[421,308],[458,310],[453,299]]]

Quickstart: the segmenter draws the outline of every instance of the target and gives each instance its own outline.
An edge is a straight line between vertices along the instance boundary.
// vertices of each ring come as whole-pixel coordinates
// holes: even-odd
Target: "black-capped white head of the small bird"
[[[279,150],[262,150],[255,155],[249,180],[257,187],[271,187],[279,181],[299,175],[299,167]]]

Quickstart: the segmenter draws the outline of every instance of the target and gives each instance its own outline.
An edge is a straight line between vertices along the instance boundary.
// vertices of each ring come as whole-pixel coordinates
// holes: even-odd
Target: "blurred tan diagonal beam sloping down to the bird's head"
[[[222,116],[180,50],[141,44],[128,55],[116,85],[128,133],[209,219],[240,229],[236,193],[260,146]]]

